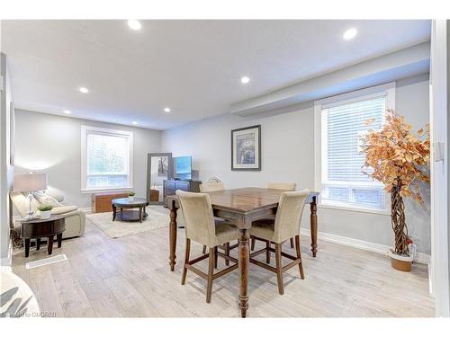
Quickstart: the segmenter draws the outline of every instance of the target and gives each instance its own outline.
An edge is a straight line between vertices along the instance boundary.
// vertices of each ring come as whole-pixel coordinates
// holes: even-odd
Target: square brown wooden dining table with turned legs
[[[208,192],[215,217],[231,220],[239,231],[238,239],[238,270],[239,270],[239,308],[242,317],[247,316],[248,309],[248,264],[250,256],[249,229],[255,220],[274,216],[278,201],[283,191],[246,187],[234,190]],[[305,201],[311,209],[311,253],[317,254],[317,201],[320,193],[311,191]],[[166,197],[167,208],[170,209],[169,224],[169,265],[175,270],[176,263],[176,216],[179,203],[176,195]]]

